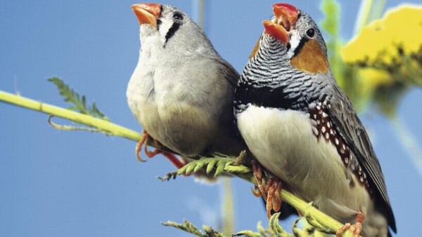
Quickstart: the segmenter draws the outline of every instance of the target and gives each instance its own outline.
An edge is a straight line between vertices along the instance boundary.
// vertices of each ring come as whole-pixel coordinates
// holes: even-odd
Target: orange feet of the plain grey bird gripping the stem
[[[143,131],[143,136],[142,136],[142,138],[141,138],[141,140],[139,140],[139,142],[138,142],[138,144],[136,144],[136,149],[135,149],[135,152],[136,152],[136,158],[138,158],[138,161],[141,161],[141,162],[145,162],[145,160],[143,160],[142,158],[141,158],[141,149],[142,149],[142,145],[143,145],[143,151],[145,152],[145,154],[146,154],[146,156],[148,157],[148,158],[153,158],[154,156],[156,156],[157,154],[162,154],[163,156],[165,156],[167,159],[169,159],[169,161],[174,165],[174,166],[176,166],[176,168],[182,168],[184,165],[185,165],[185,163],[184,162],[182,162],[182,161],[180,161],[179,160],[179,158],[177,158],[176,156],[174,156],[174,154],[172,154],[172,153],[170,153],[170,152],[167,152],[167,151],[162,151],[162,150],[160,150],[160,149],[155,149],[155,150],[153,150],[153,151],[149,151],[148,150],[148,146],[147,146],[147,143],[148,143],[148,138],[150,138],[151,137],[151,135],[149,135],[147,132],[146,132],[146,130],[144,130]],[[152,137],[151,137],[152,138]],[[155,147],[158,147],[159,146],[159,144],[158,144],[158,141],[157,140],[155,140],[155,139],[153,139],[153,141],[154,141],[154,144],[155,144]]]

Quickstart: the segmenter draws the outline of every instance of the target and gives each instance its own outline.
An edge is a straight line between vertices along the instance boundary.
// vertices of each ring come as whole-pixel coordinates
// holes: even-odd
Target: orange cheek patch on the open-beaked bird
[[[326,73],[330,69],[324,50],[314,39],[305,43],[300,52],[290,60],[290,64],[297,69],[312,74]]]

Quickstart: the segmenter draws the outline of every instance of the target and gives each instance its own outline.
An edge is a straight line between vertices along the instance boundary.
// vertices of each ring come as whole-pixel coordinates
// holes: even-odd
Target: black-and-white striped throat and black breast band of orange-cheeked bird
[[[286,48],[279,44],[260,47],[243,70],[236,100],[238,104],[306,110],[328,85],[328,74],[331,72],[309,74],[296,69],[286,57]]]

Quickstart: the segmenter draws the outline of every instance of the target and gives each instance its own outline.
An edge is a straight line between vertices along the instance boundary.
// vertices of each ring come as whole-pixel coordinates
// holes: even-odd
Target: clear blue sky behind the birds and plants
[[[288,1],[322,18],[319,1]],[[358,1],[343,5],[342,36],[350,39]],[[411,1],[410,1],[411,2]],[[414,3],[418,1],[413,1]],[[141,131],[126,102],[126,87],[139,54],[136,1],[0,1],[0,90],[68,107],[55,86],[59,76],[87,95],[114,123]],[[192,15],[192,1],[160,1]],[[400,1],[388,1],[388,7]],[[241,72],[262,20],[274,1],[209,1],[206,32],[219,53]],[[411,90],[399,116],[422,144],[421,90]],[[135,142],[51,128],[45,114],[0,103],[0,236],[188,236],[161,226],[186,218],[218,226],[222,187],[179,177],[165,158],[139,163]],[[68,121],[56,120],[60,123]],[[390,123],[363,117],[380,159],[400,236],[420,233],[421,175]],[[250,184],[232,180],[236,230],[266,223]],[[290,224],[285,224],[290,229]]]

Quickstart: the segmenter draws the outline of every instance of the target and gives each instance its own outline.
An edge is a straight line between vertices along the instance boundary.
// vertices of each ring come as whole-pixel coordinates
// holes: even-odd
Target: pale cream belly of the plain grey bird
[[[149,82],[148,82],[149,81]],[[127,100],[136,119],[151,137],[184,156],[196,156],[215,137],[217,125],[198,107],[177,100],[178,88],[157,95],[152,80],[129,81]],[[199,139],[200,138],[200,139]]]

